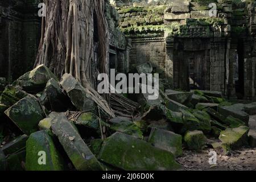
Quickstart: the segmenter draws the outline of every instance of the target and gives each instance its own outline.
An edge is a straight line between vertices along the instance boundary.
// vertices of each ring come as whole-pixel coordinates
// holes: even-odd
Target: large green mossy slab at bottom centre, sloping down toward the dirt
[[[122,133],[115,133],[104,141],[99,158],[128,171],[168,171],[181,167],[171,152]]]

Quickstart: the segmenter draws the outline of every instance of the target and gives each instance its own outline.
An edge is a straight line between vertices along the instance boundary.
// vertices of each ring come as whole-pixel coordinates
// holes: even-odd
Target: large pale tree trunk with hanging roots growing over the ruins
[[[98,73],[108,73],[108,24],[104,0],[44,0],[47,7],[42,23],[42,39],[36,65],[44,64],[56,76],[70,73],[88,92],[88,96],[114,117],[108,102],[96,92]],[[95,21],[95,22],[94,22]],[[98,57],[94,57],[94,24],[97,25]]]

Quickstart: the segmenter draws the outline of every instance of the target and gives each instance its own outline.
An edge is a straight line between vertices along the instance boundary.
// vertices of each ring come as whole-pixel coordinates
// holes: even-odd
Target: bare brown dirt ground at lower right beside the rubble
[[[256,133],[256,115],[250,117],[250,133]],[[210,150],[200,152],[184,151],[177,161],[183,165],[185,171],[255,171],[256,148],[242,148],[232,151],[229,156],[217,156],[217,165],[209,164]]]

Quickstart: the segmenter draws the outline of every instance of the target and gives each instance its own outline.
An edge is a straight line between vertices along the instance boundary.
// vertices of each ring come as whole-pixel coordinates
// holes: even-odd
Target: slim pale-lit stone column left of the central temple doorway
[[[166,39],[166,78],[174,88],[174,38]]]

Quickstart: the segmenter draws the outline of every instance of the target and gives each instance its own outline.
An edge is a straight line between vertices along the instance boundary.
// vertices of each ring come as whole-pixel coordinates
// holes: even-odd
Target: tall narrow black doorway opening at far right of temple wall
[[[238,40],[237,44],[237,73],[238,78],[236,80],[236,93],[238,99],[242,99],[245,94],[245,57],[244,57],[244,49],[243,49],[243,41]]]

